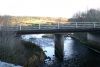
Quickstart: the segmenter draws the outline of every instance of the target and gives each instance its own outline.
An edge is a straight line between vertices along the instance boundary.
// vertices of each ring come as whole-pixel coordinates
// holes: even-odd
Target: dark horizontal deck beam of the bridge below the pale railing
[[[19,30],[17,34],[56,34],[56,33],[71,33],[71,32],[100,32],[99,28],[91,29],[49,29],[49,30]]]

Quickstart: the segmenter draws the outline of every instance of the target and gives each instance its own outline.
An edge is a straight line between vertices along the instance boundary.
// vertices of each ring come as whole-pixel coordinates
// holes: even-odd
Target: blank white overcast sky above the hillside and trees
[[[100,0],[0,0],[0,15],[70,18],[91,8],[100,9]]]

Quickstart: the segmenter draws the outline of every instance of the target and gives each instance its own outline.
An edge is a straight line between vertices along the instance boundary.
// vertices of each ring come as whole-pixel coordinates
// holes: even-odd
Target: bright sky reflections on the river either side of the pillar
[[[29,36],[24,36],[25,37],[29,37],[28,39],[30,39],[30,37],[32,37],[33,35],[29,35]],[[38,44],[39,46],[42,47],[42,49],[45,51],[45,54],[47,55],[47,57],[50,57],[51,60],[49,60],[48,58],[45,60],[47,64],[52,64],[55,61],[55,56],[54,56],[54,40],[53,39],[49,39],[49,38],[42,38],[42,35],[37,35],[38,37],[36,37],[35,35],[33,37],[35,37],[35,40],[32,40],[33,43]],[[73,40],[71,39],[71,37],[67,37],[64,40],[64,54],[65,54],[65,59],[70,58],[72,53],[73,53]]]

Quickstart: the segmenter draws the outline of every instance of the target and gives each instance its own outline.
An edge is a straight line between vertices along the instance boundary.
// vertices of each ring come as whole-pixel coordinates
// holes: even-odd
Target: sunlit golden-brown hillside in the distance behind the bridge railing
[[[34,16],[1,16],[0,22],[13,25],[31,25],[31,24],[55,24],[57,22],[67,23],[67,18],[62,17],[34,17]]]

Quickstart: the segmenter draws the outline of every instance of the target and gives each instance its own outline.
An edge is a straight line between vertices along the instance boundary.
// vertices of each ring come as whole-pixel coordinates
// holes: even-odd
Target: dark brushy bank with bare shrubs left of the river
[[[44,62],[45,53],[36,44],[22,41],[14,32],[0,33],[0,60],[24,67],[38,67]]]

